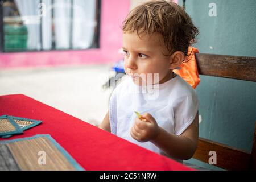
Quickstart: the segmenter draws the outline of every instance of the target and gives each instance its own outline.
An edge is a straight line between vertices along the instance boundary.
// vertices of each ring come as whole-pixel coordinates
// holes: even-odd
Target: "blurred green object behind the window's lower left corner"
[[[25,51],[27,49],[27,27],[18,24],[5,24],[4,50],[5,52]]]

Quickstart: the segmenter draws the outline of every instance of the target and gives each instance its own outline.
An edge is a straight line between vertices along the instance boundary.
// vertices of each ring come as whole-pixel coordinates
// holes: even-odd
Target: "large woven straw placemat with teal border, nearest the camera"
[[[2,155],[4,162],[0,162],[0,170],[84,170],[51,135],[0,142],[0,153],[5,154]]]

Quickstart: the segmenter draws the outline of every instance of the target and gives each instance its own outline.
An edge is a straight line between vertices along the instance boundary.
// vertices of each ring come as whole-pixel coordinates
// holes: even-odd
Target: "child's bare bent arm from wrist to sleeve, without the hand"
[[[198,112],[191,125],[181,134],[174,135],[160,128],[159,134],[151,140],[166,154],[176,159],[187,160],[192,158],[197,148],[199,135]]]

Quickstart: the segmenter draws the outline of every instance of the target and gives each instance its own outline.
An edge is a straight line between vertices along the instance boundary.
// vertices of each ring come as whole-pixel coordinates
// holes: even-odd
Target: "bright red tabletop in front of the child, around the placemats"
[[[9,140],[50,134],[86,170],[191,170],[22,94],[0,96],[4,114],[43,121]]]

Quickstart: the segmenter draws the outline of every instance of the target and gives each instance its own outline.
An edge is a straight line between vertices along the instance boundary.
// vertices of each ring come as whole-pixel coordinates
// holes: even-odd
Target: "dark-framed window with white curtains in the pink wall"
[[[3,52],[99,47],[100,0],[1,0]]]

